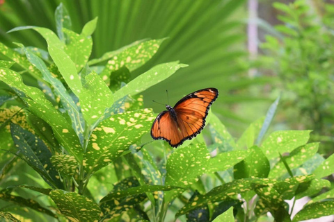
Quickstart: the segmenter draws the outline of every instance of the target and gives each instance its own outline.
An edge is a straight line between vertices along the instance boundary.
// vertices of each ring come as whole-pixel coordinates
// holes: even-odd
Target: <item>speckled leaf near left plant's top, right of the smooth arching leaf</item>
[[[70,56],[77,68],[77,72],[79,72],[88,62],[90,53],[92,52],[92,38],[90,36],[79,35],[66,28],[63,28],[63,32],[67,39],[67,44],[63,51]]]

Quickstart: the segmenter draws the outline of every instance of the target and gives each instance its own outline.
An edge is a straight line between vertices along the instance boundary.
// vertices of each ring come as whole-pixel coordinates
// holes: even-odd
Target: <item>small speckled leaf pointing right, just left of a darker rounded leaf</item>
[[[230,169],[238,162],[244,160],[249,151],[230,151],[226,153],[218,153],[215,157],[210,159],[210,172],[225,171]]]

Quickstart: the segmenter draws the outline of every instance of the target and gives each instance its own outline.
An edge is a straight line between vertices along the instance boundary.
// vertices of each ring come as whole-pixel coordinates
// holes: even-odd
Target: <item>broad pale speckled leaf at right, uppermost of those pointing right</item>
[[[271,133],[261,145],[261,149],[268,160],[278,157],[278,153],[293,151],[303,146],[310,138],[311,130],[284,130]]]

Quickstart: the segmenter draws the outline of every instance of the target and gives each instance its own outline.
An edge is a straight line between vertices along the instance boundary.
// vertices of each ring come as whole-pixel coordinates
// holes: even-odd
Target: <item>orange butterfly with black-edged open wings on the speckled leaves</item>
[[[186,139],[196,137],[205,126],[205,118],[212,103],[218,97],[218,89],[200,89],[184,96],[172,108],[160,112],[151,128],[153,139],[164,139],[177,147]]]

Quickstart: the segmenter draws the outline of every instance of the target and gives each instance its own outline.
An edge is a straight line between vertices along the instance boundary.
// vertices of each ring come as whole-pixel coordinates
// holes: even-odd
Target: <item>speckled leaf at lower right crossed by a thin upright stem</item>
[[[289,156],[285,157],[285,161],[290,169],[295,169],[301,164],[310,159],[315,153],[317,153],[319,143],[306,144],[299,148],[294,149]],[[277,162],[273,169],[269,173],[269,178],[279,178],[287,173],[282,160]]]

